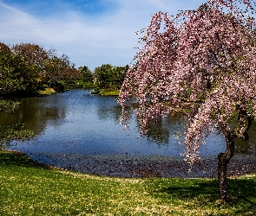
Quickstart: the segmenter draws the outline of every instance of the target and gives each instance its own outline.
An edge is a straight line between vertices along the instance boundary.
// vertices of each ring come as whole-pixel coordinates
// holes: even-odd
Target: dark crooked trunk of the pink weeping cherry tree
[[[220,200],[228,202],[229,194],[227,190],[226,167],[234,154],[234,136],[233,133],[226,133],[226,151],[218,155],[218,181],[220,187]]]

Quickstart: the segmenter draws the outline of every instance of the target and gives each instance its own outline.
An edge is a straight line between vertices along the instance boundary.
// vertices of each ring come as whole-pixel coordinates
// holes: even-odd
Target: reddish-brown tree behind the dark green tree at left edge
[[[13,45],[11,51],[24,61],[29,73],[27,82],[30,80],[30,92],[38,92],[42,84],[55,87],[57,91],[62,91],[64,86],[58,81],[69,81],[80,79],[81,73],[75,68],[75,64],[70,62],[67,54],[58,56],[56,49],[47,51],[42,46],[31,43],[20,43]],[[37,91],[36,91],[37,85]]]

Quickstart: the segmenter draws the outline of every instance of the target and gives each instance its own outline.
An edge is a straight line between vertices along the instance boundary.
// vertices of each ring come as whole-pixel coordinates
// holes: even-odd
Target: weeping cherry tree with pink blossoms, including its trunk
[[[226,167],[234,155],[234,140],[248,139],[256,117],[256,30],[251,0],[208,0],[197,10],[176,16],[156,13],[141,38],[121,87],[125,107],[138,106],[141,131],[149,121],[186,107],[187,162],[199,157],[199,147],[213,131],[226,138],[218,155],[220,199],[226,202]]]

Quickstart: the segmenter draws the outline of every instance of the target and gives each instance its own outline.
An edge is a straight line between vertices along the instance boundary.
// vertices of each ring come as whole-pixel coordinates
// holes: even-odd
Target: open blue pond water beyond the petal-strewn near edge
[[[174,138],[182,130],[180,116],[138,136],[133,117],[129,130],[120,124],[120,106],[116,97],[103,97],[90,91],[75,89],[46,97],[22,98],[14,114],[0,113],[0,125],[23,122],[36,137],[26,142],[13,141],[7,149],[22,151],[38,162],[50,163],[55,156],[168,156],[181,157],[182,138]],[[254,155],[256,152],[255,124],[248,142],[238,140],[236,152]],[[200,156],[217,156],[225,150],[221,135],[213,135],[200,147]]]

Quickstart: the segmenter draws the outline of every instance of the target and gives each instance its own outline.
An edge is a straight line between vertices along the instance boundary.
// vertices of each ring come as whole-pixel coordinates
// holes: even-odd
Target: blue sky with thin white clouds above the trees
[[[175,15],[206,0],[0,0],[0,41],[36,43],[67,54],[76,67],[130,64],[135,31],[158,11]]]

